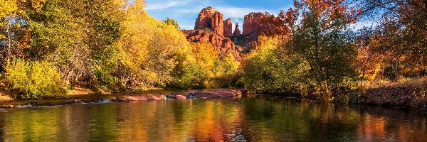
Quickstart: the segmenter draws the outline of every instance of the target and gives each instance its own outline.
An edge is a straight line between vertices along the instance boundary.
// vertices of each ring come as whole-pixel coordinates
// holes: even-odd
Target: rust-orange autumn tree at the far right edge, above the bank
[[[427,3],[423,0],[364,0],[365,18],[376,21],[384,75],[391,80],[426,75]]]

